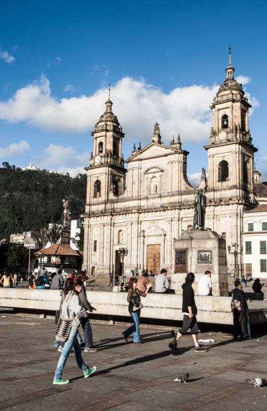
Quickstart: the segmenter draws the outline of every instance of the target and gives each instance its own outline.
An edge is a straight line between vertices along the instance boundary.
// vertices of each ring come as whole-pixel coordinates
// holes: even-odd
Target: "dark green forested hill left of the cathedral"
[[[71,219],[84,212],[86,174],[77,177],[45,171],[22,171],[8,163],[0,168],[0,240],[12,233],[34,231],[50,222],[60,223],[65,198]]]

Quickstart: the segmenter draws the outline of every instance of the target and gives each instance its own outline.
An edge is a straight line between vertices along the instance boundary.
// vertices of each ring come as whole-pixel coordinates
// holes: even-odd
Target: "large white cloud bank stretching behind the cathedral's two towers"
[[[149,141],[158,121],[163,141],[180,133],[184,143],[201,142],[209,136],[212,126],[209,105],[217,90],[218,85],[192,85],[165,93],[144,79],[124,77],[111,89],[113,113],[121,121],[128,139]],[[18,89],[10,100],[0,102],[0,119],[26,121],[52,132],[90,132],[105,110],[106,99],[106,88],[91,96],[56,99],[43,74],[39,81]]]

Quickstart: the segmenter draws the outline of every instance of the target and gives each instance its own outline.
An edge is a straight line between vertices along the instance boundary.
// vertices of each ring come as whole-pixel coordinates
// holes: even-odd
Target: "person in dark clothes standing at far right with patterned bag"
[[[245,299],[244,291],[242,290],[242,284],[239,280],[235,281],[235,288],[232,291],[233,300],[240,301],[242,304],[242,310],[239,311],[236,308],[233,310],[233,323],[234,323],[234,340],[238,339],[238,335],[241,335],[240,340],[243,341],[246,336],[246,315],[249,309]]]

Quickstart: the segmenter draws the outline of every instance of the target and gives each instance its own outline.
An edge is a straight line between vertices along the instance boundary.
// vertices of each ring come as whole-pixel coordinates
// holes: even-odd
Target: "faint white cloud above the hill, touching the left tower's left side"
[[[69,173],[75,176],[85,173],[84,166],[89,162],[89,153],[78,152],[71,146],[50,143],[45,148],[44,154],[39,157],[40,169],[46,169],[58,173]],[[67,165],[66,165],[67,164]]]

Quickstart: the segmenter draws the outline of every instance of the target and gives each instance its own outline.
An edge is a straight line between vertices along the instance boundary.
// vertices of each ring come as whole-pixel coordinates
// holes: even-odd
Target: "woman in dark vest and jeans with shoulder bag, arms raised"
[[[148,283],[146,286],[145,292],[142,292],[137,289],[137,278],[131,277],[128,287],[129,287],[128,293],[127,293],[127,301],[129,303],[128,309],[132,317],[133,324],[129,328],[127,328],[127,330],[123,331],[122,334],[124,335],[125,341],[128,341],[127,338],[133,332],[133,342],[141,344],[140,324],[139,324],[141,308],[137,310],[136,308],[138,308],[137,306],[141,304],[140,295],[142,297],[145,297],[149,289],[152,287],[152,284]]]

